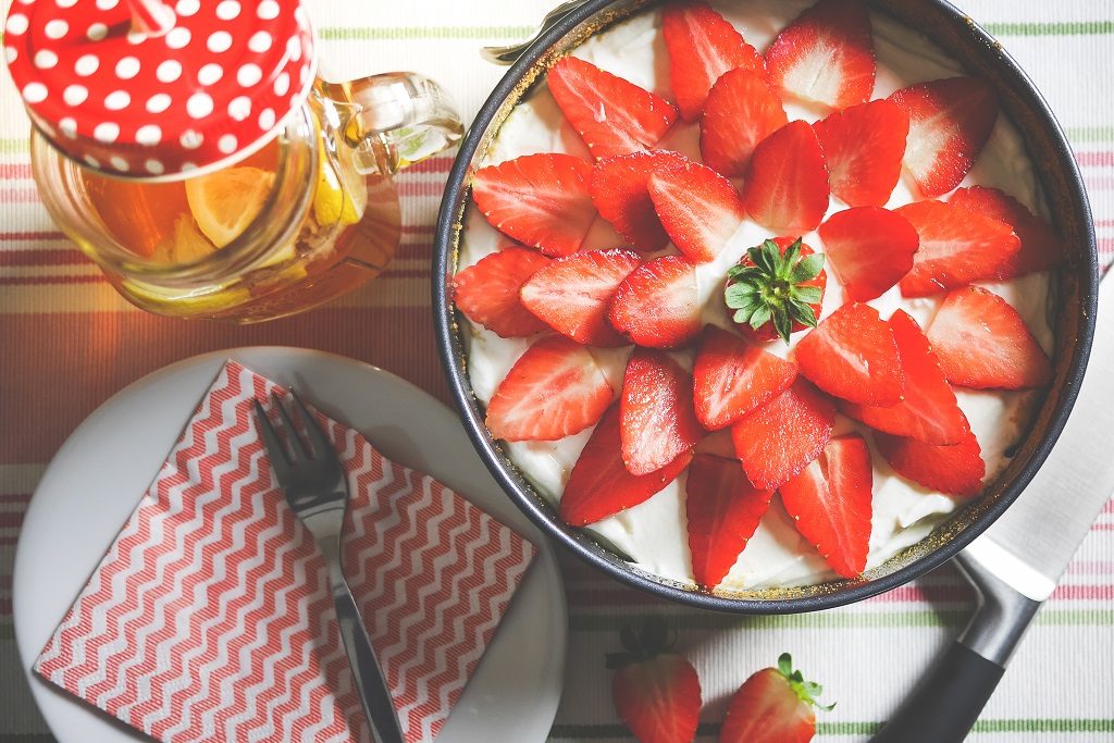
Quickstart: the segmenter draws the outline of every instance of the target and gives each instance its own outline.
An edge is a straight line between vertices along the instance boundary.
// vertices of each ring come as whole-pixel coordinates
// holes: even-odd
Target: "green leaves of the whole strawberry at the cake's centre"
[[[735,311],[735,322],[754,330],[772,322],[786,343],[794,322],[815,327],[817,314],[810,305],[819,302],[822,293],[803,284],[820,275],[823,254],[801,257],[800,238],[782,254],[778,244],[768,239],[746,251],[746,257],[752,265],[732,266],[724,290],[724,302]]]

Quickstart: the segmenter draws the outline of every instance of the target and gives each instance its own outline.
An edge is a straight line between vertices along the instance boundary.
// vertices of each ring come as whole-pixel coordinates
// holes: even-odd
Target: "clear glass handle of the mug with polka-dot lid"
[[[365,173],[391,175],[456,145],[465,133],[449,95],[417,72],[325,82],[335,124]]]

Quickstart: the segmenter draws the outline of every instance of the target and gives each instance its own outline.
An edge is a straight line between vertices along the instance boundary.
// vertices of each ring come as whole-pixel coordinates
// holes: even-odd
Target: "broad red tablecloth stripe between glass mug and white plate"
[[[375,282],[358,290],[374,291]],[[426,293],[422,287],[414,300],[424,302]],[[427,307],[323,307],[257,325],[184,322],[145,312],[29,313],[0,315],[0,338],[4,348],[20,350],[0,354],[0,410],[9,423],[0,427],[0,463],[47,461],[86,416],[123,387],[218,349],[291,345],[339,353],[448,400]]]

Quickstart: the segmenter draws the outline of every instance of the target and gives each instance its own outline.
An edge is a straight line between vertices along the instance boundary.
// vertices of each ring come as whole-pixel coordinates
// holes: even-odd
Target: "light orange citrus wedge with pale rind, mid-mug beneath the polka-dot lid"
[[[224,247],[258,216],[274,180],[262,168],[225,168],[187,180],[186,201],[202,234]]]

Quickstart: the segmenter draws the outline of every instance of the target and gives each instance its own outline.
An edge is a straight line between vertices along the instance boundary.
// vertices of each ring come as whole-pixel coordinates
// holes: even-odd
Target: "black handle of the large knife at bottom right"
[[[951,643],[873,743],[961,743],[1005,671],[966,645]]]

